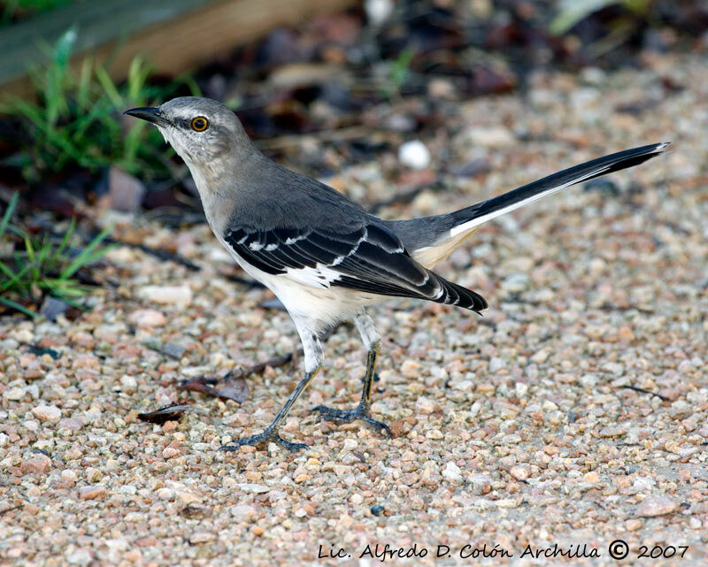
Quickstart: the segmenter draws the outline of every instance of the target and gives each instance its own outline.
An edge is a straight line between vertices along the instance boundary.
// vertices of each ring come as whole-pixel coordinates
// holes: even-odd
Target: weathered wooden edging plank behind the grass
[[[3,93],[32,91],[27,69],[47,61],[44,45],[78,24],[76,65],[111,61],[114,79],[142,55],[160,73],[179,74],[226,55],[274,27],[340,10],[354,0],[104,0],[70,4],[0,32]]]

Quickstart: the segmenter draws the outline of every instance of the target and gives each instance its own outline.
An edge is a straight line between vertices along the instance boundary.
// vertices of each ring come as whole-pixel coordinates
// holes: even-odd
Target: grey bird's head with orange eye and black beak
[[[189,165],[189,169],[213,168],[250,149],[241,122],[225,104],[199,96],[173,98],[157,107],[133,108],[125,114],[155,126]]]

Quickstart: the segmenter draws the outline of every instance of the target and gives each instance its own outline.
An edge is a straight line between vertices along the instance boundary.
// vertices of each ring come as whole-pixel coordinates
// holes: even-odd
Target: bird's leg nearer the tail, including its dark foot
[[[391,437],[389,425],[376,421],[369,415],[371,406],[371,387],[373,383],[374,369],[376,367],[376,358],[381,350],[381,335],[373,325],[372,319],[366,315],[366,311],[358,313],[354,317],[354,323],[357,326],[358,332],[361,335],[361,340],[364,341],[364,346],[368,350],[366,356],[366,374],[364,376],[364,389],[361,392],[361,401],[356,408],[351,410],[335,410],[327,408],[327,406],[319,405],[312,408],[312,411],[319,411],[319,417],[336,421],[338,423],[350,423],[355,419],[359,419],[371,426],[378,432],[385,431]]]

